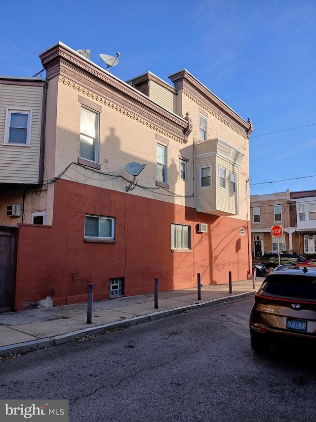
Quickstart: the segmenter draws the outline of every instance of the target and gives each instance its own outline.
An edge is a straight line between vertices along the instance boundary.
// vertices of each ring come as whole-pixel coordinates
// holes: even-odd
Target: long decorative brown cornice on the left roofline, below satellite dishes
[[[63,83],[72,85],[82,94],[124,114],[130,113],[135,120],[155,127],[155,130],[170,139],[187,142],[184,133],[188,123],[184,119],[155,104],[92,62],[77,56],[66,46],[58,44],[41,53],[40,59],[48,81],[58,75]]]

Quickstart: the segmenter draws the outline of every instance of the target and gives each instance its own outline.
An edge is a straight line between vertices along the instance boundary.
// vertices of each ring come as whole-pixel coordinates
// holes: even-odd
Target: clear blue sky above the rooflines
[[[1,15],[0,75],[33,76],[58,41],[97,64],[119,51],[124,81],[186,68],[253,122],[252,195],[316,189],[315,0],[2,0]]]

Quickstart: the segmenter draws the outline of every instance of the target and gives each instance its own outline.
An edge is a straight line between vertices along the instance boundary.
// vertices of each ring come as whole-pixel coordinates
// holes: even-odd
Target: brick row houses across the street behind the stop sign
[[[252,257],[277,250],[271,235],[275,225],[283,227],[281,251],[316,256],[316,190],[250,196]]]

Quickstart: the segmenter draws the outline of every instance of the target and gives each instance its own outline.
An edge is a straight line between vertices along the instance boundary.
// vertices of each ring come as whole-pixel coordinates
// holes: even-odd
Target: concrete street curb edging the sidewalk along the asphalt
[[[195,311],[204,307],[225,303],[232,300],[240,299],[247,296],[253,296],[255,291],[247,291],[238,293],[233,296],[225,296],[219,299],[212,299],[206,302],[195,303],[194,305],[185,305],[178,308],[172,308],[164,311],[156,311],[151,314],[141,315],[138,317],[128,318],[123,321],[114,323],[107,323],[101,326],[94,326],[89,328],[82,328],[77,331],[68,332],[66,334],[56,335],[54,337],[41,338],[39,340],[25,341],[24,343],[11,344],[0,347],[0,357],[16,355],[19,353],[32,352],[34,350],[45,349],[47,347],[58,346],[60,344],[69,343],[77,340],[80,337],[89,335],[104,334],[105,332],[115,330],[116,328],[127,328],[139,324],[157,321],[162,318],[170,317],[172,315],[182,314],[185,312]]]

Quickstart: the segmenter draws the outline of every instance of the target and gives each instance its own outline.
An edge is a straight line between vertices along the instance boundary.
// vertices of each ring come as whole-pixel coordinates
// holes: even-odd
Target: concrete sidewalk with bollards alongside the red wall
[[[26,353],[227,302],[254,294],[263,280],[256,279],[255,289],[252,280],[235,281],[232,293],[228,283],[202,286],[201,300],[197,299],[197,287],[159,292],[158,309],[154,293],[94,302],[92,324],[87,324],[87,303],[0,313],[0,356]]]

